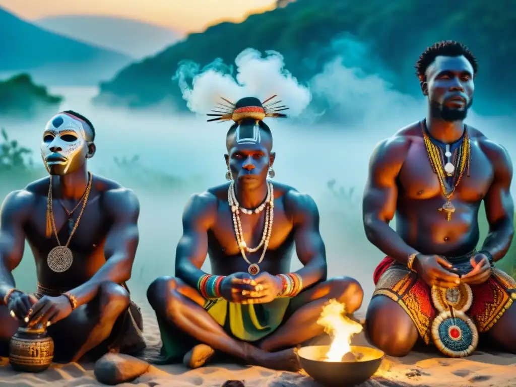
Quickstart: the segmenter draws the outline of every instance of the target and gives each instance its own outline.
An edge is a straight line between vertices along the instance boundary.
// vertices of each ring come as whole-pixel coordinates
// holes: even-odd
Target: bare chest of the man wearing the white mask
[[[69,216],[65,209],[66,204],[63,204],[59,200],[54,200],[53,216],[48,219],[46,198],[38,200],[35,211],[25,224],[27,241],[33,250],[42,255],[46,255],[58,245],[68,246],[79,254],[93,253],[103,244],[109,229],[109,219],[103,211],[100,197],[88,200],[82,214],[82,206],[79,205]],[[66,207],[68,212],[73,209],[71,205]]]

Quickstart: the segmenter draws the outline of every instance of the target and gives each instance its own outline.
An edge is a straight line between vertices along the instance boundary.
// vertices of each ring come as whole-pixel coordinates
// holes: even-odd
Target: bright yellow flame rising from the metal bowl
[[[326,353],[327,362],[340,362],[344,355],[351,352],[351,337],[362,332],[362,325],[345,315],[346,306],[335,299],[322,308],[317,324],[332,336],[330,349]]]

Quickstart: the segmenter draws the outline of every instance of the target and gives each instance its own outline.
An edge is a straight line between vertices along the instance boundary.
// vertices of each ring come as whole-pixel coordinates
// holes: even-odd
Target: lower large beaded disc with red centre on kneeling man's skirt
[[[442,312],[432,323],[432,340],[436,347],[451,358],[470,356],[478,345],[478,331],[463,312]]]

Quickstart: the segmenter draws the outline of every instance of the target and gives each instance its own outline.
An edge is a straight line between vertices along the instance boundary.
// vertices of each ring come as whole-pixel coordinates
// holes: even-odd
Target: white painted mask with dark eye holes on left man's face
[[[88,141],[90,140],[90,141]],[[46,124],[41,142],[41,157],[51,175],[66,175],[86,161],[91,135],[83,123],[67,114],[54,116]]]

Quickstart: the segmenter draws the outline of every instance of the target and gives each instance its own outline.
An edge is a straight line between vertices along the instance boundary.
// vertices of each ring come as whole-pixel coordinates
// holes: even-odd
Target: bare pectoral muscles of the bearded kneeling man
[[[466,203],[478,202],[486,196],[492,180],[493,168],[489,159],[471,141],[469,166],[466,165],[453,197]],[[400,193],[409,199],[425,200],[443,195],[443,187],[437,173],[433,172],[422,140],[412,144],[399,173],[398,184]]]

